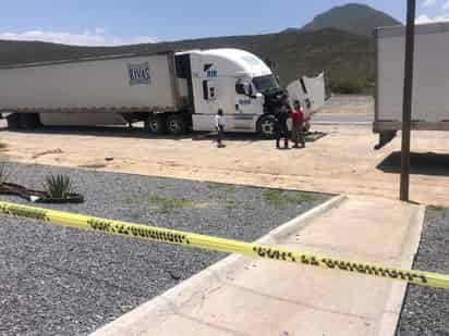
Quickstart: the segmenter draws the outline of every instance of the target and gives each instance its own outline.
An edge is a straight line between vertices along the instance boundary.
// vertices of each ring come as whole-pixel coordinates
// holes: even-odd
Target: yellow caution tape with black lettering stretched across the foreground
[[[17,217],[44,221],[47,223],[97,231],[110,235],[121,235],[146,240],[182,245],[206,250],[239,253],[252,258],[264,258],[326,270],[344,271],[368,276],[408,282],[421,286],[449,289],[449,276],[438,273],[397,269],[360,261],[337,259],[326,256],[290,251],[277,247],[263,246],[232,239],[217,238],[182,231],[139,225],[121,221],[106,220],[70,212],[48,210],[0,202],[0,213]]]

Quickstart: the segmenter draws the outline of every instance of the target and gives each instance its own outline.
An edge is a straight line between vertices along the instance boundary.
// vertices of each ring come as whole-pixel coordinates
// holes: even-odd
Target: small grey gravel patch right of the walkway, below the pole
[[[427,208],[413,267],[449,274],[449,209]],[[397,335],[449,335],[449,290],[409,286]]]

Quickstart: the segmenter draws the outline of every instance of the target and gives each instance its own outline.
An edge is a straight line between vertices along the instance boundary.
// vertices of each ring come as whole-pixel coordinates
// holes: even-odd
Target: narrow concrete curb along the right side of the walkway
[[[420,209],[412,220],[408,233],[408,239],[402,250],[402,259],[400,266],[412,267],[415,259],[417,248],[420,247],[421,233],[423,231],[424,217],[426,207],[420,206]],[[398,265],[399,266],[399,265]],[[388,297],[384,313],[380,316],[379,328],[377,335],[379,336],[395,336],[399,324],[399,318],[402,311],[402,304],[405,298],[408,284],[402,282],[393,282]]]

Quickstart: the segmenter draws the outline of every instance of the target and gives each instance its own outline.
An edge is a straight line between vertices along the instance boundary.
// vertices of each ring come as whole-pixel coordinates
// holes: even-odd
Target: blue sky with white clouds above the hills
[[[417,22],[449,21],[449,0],[416,0]],[[301,27],[339,0],[0,0],[0,39],[116,46]],[[359,1],[404,21],[406,0]]]

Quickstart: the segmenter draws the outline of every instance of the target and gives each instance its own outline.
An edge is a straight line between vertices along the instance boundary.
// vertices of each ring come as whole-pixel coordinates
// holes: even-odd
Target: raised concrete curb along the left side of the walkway
[[[286,224],[272,229],[256,242],[272,245],[291,235],[293,232],[311,224],[317,216],[339,207],[347,196],[340,195],[325,203],[299,215]],[[231,277],[234,272],[243,270],[252,259],[239,254],[231,254],[195,274],[178,286],[167,290],[158,297],[141,304],[116,321],[95,331],[90,336],[138,336],[149,329],[156,315],[166,315],[177,312],[181,307],[189,304],[193,298],[205,296],[208,291],[220,287],[220,283]]]

